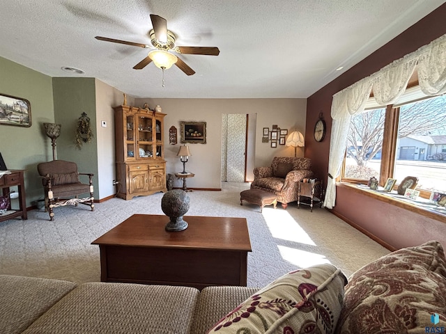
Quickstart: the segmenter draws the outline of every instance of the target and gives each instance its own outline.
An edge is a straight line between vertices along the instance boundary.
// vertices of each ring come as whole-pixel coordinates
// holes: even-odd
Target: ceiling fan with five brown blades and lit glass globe
[[[218,56],[220,50],[218,47],[176,47],[176,35],[167,30],[167,21],[163,17],[151,14],[151,21],[153,29],[149,31],[148,35],[151,38],[151,45],[128,42],[127,40],[115,40],[114,38],[107,38],[95,36],[97,40],[104,40],[105,42],[119,43],[125,45],[132,45],[134,47],[143,47],[145,49],[153,49],[148,53],[148,56],[142,61],[134,65],[135,70],[141,70],[150,64],[152,61],[155,65],[164,70],[167,70],[171,65],[176,65],[180,70],[187,75],[195,74],[195,71],[189,67],[181,58],[178,58],[171,51],[178,54],[203,54],[207,56]]]

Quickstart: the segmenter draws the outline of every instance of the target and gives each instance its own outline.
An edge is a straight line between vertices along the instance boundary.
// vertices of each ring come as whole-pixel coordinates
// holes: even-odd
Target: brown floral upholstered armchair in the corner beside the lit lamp
[[[254,168],[251,189],[269,191],[277,195],[277,202],[286,209],[289,202],[298,200],[298,182],[312,177],[309,158],[274,157],[270,167]]]

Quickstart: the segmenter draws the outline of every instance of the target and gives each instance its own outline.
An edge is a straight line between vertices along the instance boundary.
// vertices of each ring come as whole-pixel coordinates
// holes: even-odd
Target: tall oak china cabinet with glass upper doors
[[[116,106],[116,196],[131,200],[167,191],[163,123],[165,113]]]

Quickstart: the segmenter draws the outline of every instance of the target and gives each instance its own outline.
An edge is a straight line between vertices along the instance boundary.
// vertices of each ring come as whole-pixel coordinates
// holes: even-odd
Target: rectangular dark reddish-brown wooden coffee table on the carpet
[[[245,218],[184,216],[189,227],[167,232],[169,217],[134,214],[102,235],[101,281],[162,285],[247,284],[252,251]]]

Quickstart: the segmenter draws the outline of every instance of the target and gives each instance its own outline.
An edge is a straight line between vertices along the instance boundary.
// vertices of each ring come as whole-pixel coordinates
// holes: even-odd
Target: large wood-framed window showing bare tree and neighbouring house
[[[398,184],[415,176],[419,190],[446,190],[446,96],[420,100],[420,89],[410,89],[401,102],[352,118],[343,180],[376,177],[383,186],[387,177]]]

